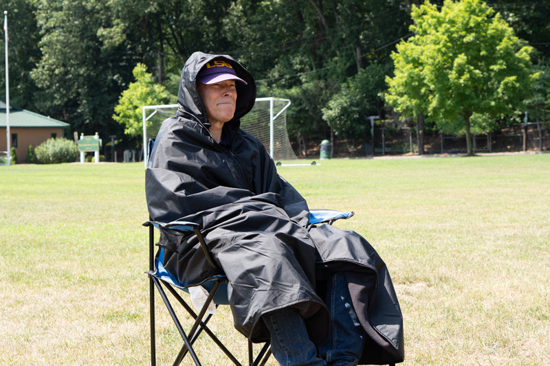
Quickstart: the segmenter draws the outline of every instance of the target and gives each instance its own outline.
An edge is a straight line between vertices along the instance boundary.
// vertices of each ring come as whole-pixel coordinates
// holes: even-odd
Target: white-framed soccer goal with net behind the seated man
[[[261,141],[274,160],[298,159],[287,132],[287,113],[290,100],[256,98],[254,108],[241,118],[241,128]],[[154,139],[162,121],[175,117],[177,104],[143,106],[143,156],[147,167],[147,141]]]

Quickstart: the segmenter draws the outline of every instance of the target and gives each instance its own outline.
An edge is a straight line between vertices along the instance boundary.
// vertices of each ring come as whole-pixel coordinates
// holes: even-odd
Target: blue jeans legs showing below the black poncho
[[[329,279],[325,301],[331,324],[329,338],[318,350],[309,340],[304,320],[295,308],[263,315],[271,334],[273,356],[281,366],[357,365],[365,333],[353,310],[346,277],[342,273]]]

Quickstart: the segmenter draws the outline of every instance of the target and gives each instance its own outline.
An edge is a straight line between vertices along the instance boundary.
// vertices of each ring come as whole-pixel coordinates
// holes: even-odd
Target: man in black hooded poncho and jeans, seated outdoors
[[[196,238],[162,235],[180,284],[225,274],[234,327],[271,339],[281,365],[401,362],[402,317],[386,265],[353,231],[311,225],[305,199],[240,129],[256,99],[230,56],[195,52],[181,71],[177,115],[159,130],[146,170],[152,220],[197,222]]]

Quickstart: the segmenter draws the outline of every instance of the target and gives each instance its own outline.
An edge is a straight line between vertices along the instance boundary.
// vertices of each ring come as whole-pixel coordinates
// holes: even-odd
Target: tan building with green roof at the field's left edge
[[[0,151],[5,151],[7,144],[5,102],[0,100]],[[27,157],[29,146],[36,148],[52,137],[65,137],[69,124],[50,117],[45,117],[10,106],[10,146],[15,148],[17,162],[23,163]]]

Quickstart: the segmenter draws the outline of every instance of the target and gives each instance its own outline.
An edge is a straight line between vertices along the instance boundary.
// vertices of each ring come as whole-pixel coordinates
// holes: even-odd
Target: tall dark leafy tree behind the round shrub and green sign
[[[30,75],[39,87],[39,111],[74,130],[120,132],[113,106],[142,53],[135,40],[140,14],[122,3],[34,0],[42,56]]]

